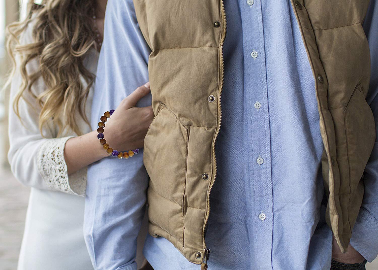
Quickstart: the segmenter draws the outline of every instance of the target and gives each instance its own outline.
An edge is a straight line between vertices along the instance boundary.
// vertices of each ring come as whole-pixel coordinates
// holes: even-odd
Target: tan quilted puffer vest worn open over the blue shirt
[[[375,141],[375,123],[365,100],[369,46],[361,26],[369,0],[291,3],[315,77],[329,196],[327,223],[345,250]],[[149,232],[201,264],[208,257],[209,193],[216,182],[214,145],[222,119],[223,1],[134,0],[134,5],[152,49],[149,76],[155,119],[144,141]]]

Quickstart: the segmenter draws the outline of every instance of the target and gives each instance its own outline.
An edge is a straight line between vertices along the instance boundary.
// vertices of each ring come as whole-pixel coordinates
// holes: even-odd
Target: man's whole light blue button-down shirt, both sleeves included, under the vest
[[[223,118],[206,234],[209,270],[329,270],[332,232],[324,219],[315,83],[290,0],[224,2]],[[364,28],[372,55],[367,101],[378,117],[375,4],[372,0]],[[110,0],[93,128],[104,111],[148,80],[149,54],[132,0]],[[147,97],[139,105],[149,104]],[[136,269],[136,235],[148,185],[142,155],[123,161],[110,157],[88,170],[84,231],[96,269]],[[377,159],[375,147],[351,241],[368,261],[378,253]],[[155,270],[200,268],[164,238],[147,236],[144,255]]]

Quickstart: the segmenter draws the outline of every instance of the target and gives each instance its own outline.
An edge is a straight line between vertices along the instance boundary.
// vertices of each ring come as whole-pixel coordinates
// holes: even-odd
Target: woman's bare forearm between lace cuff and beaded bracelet
[[[97,139],[97,131],[67,140],[64,147],[64,159],[68,174],[72,174],[96,162],[108,154]]]

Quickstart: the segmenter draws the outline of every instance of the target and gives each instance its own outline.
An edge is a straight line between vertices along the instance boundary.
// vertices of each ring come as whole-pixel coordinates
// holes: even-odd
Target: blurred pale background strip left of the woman
[[[0,0],[0,89],[10,61],[5,49],[5,26],[19,19],[21,5],[17,0]],[[17,269],[17,260],[25,226],[29,188],[13,177],[6,154],[8,153],[8,95],[0,92],[0,269]],[[41,269],[42,270],[42,269]]]

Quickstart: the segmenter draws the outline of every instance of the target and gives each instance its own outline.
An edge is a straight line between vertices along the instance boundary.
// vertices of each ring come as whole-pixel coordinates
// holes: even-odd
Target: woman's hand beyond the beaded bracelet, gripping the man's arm
[[[139,86],[118,105],[105,122],[104,136],[113,150],[125,151],[143,147],[144,137],[154,117],[152,106],[136,107],[150,92],[150,83]]]

